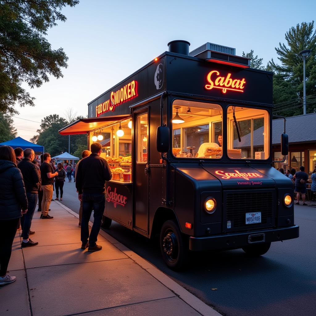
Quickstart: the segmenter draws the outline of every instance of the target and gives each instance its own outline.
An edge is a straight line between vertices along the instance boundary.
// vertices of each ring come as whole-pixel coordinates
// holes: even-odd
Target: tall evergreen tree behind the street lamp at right
[[[273,59],[268,63],[267,70],[275,73],[273,101],[278,106],[275,108],[275,111],[278,110],[276,114],[303,114],[303,60],[299,52],[304,49],[311,50],[305,66],[307,113],[315,111],[313,95],[316,94],[316,30],[313,31],[313,28],[314,21],[291,27],[285,33],[287,46],[279,43],[279,47],[275,48],[281,64],[276,64]]]

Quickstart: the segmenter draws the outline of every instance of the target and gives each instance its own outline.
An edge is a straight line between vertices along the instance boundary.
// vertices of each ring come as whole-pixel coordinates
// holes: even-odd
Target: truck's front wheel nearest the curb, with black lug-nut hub
[[[178,225],[168,220],[160,232],[160,249],[162,258],[172,270],[180,270],[187,260],[188,246]]]

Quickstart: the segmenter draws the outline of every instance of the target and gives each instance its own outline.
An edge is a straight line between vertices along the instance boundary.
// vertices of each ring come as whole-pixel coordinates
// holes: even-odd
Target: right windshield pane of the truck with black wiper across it
[[[229,106],[227,154],[231,159],[269,158],[269,114],[265,110]]]

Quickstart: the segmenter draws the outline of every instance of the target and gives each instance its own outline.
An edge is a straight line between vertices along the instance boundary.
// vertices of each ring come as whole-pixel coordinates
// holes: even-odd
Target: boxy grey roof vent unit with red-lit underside
[[[206,43],[189,53],[190,56],[203,58],[218,64],[249,68],[251,58],[236,56],[236,49],[213,43]]]

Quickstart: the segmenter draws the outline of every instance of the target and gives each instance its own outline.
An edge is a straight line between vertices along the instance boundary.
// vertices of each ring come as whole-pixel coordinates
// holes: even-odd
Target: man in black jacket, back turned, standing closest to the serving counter
[[[105,208],[105,181],[112,178],[107,161],[100,157],[101,152],[100,143],[93,143],[91,155],[80,161],[76,175],[78,198],[82,201],[81,249],[88,248],[89,252],[102,249],[102,246],[97,245],[96,241]],[[94,222],[89,235],[89,219],[92,209],[94,209]]]

